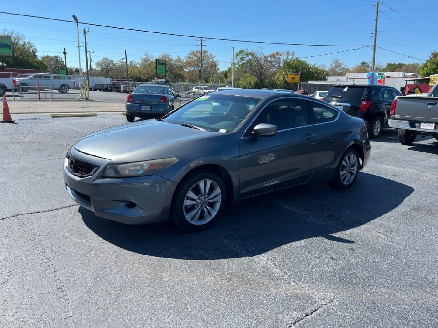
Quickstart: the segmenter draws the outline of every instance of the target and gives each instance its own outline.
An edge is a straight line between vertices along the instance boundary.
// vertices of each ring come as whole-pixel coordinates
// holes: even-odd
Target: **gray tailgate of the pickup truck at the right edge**
[[[438,123],[438,98],[399,96],[394,119]]]

